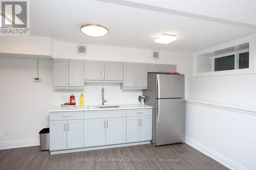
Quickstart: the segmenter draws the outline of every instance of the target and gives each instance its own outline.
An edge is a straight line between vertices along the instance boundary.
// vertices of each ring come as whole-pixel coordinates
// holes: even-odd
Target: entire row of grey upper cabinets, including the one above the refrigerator
[[[176,72],[176,65],[94,60],[53,60],[54,88],[83,88],[84,82],[123,83],[123,89],[146,89],[147,72]]]

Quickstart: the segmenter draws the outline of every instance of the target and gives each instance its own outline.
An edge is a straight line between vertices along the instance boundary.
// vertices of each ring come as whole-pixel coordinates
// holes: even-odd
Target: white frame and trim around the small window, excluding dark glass
[[[255,74],[255,65],[256,65],[256,34],[250,34],[246,35],[237,39],[233,39],[230,41],[226,41],[217,45],[209,46],[206,48],[203,48],[202,50],[196,51],[193,53],[193,77],[210,77],[210,76],[227,76],[227,75],[244,75],[244,74]],[[200,60],[200,56],[223,50],[225,48],[236,46],[244,43],[249,43],[249,68],[243,68],[243,69],[232,69],[232,70],[222,70],[222,71],[207,71],[207,72],[198,72],[197,71],[197,60]],[[246,51],[246,50],[245,50]],[[254,53],[255,52],[255,53]],[[233,52],[233,54],[240,53],[239,52]],[[232,54],[232,53],[231,53]],[[222,57],[228,56],[229,54],[221,55]],[[221,57],[221,56],[215,56],[215,57]],[[214,58],[214,57],[212,57]],[[235,59],[236,61],[236,59]],[[237,64],[235,64],[235,68],[237,68]],[[212,68],[211,70],[214,70],[214,62],[212,62]]]

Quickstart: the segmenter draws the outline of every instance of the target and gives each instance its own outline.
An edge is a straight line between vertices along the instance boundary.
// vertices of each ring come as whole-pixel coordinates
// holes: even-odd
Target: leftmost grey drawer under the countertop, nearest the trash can
[[[83,112],[51,112],[50,120],[74,120],[83,119]]]

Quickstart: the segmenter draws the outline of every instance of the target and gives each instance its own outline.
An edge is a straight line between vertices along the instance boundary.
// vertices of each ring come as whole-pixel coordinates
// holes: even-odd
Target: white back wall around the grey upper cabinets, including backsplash
[[[61,44],[54,48],[55,57],[155,62],[151,60],[150,50],[89,45],[89,54],[84,57],[75,55],[75,48],[74,51],[70,50],[75,44]],[[158,63],[177,64],[178,71],[186,73],[186,54],[161,54]],[[55,105],[68,102],[72,93],[75,94],[77,102],[79,95],[83,93],[86,105],[101,104],[102,87],[105,89],[106,104],[137,103],[138,96],[142,94],[142,90],[123,90],[119,83],[86,83],[82,90],[53,89],[52,60],[39,60],[41,82],[34,82],[34,77],[35,59],[0,58],[0,149],[39,144],[39,130],[49,127],[48,110]],[[4,130],[9,131],[9,136],[4,136]]]

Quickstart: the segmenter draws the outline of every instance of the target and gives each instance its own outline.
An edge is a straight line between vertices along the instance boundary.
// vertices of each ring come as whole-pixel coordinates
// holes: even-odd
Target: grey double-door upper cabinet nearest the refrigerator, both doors
[[[147,88],[147,64],[124,63],[123,71],[124,89],[146,89]]]

